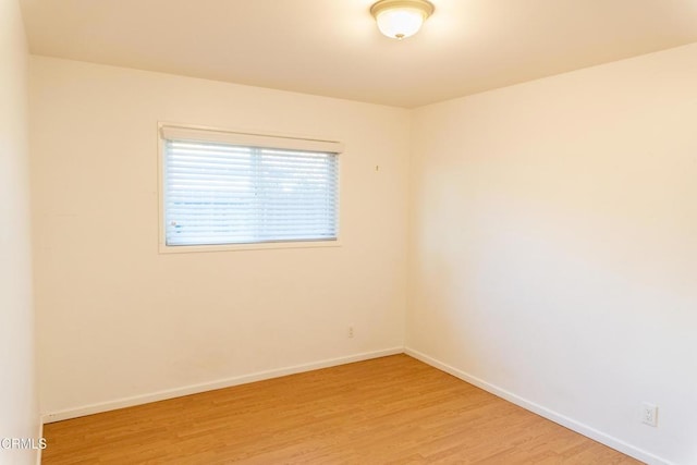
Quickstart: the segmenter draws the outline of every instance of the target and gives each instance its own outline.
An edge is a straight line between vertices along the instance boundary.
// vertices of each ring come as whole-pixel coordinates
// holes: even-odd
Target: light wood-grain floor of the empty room
[[[46,425],[44,464],[639,464],[406,355]]]

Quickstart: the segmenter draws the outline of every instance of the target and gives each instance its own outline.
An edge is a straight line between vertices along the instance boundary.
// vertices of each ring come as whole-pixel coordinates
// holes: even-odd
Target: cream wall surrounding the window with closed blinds
[[[45,414],[401,351],[406,110],[39,57],[30,77]],[[159,254],[158,121],[343,142],[343,245]]]

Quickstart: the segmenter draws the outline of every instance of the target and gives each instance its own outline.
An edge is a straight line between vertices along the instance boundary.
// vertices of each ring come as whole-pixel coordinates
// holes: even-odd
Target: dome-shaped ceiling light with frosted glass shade
[[[427,0],[380,0],[370,7],[370,14],[382,34],[402,40],[418,33],[433,10]]]

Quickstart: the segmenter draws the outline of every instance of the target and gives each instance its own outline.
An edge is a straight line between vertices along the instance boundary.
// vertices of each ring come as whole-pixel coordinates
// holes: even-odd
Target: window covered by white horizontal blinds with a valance
[[[337,241],[341,145],[162,126],[166,248]]]

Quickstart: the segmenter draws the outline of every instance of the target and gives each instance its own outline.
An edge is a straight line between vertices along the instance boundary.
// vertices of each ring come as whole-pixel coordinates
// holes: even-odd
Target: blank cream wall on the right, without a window
[[[696,83],[692,45],[416,110],[407,347],[697,463]]]

